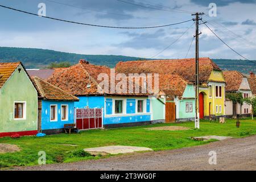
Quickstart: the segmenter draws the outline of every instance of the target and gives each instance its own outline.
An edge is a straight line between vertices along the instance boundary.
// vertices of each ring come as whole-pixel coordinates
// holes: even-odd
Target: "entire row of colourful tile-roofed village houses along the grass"
[[[222,72],[207,57],[200,58],[199,65],[200,118],[250,115],[250,105],[237,104],[234,109],[225,94],[255,96],[254,73],[246,77],[237,71]],[[114,71],[158,73],[158,93],[99,90],[98,76],[110,76],[110,68],[85,60],[69,68],[41,70],[26,70],[22,63],[0,63],[0,137],[60,133],[69,123],[94,129],[195,118],[195,59],[125,61]]]

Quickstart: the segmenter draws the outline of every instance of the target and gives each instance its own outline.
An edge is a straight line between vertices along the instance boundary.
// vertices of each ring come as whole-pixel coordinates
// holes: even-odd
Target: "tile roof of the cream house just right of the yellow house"
[[[226,81],[226,92],[238,91],[245,77],[238,71],[224,71],[223,75]]]

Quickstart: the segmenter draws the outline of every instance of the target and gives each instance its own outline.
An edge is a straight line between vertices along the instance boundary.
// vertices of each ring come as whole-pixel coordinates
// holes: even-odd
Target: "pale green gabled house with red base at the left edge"
[[[0,63],[0,137],[35,135],[38,93],[22,63]]]

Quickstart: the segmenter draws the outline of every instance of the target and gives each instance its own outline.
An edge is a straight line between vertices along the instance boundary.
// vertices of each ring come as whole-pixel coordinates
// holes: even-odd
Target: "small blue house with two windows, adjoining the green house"
[[[42,78],[31,79],[38,90],[38,131],[45,134],[63,133],[65,124],[75,123],[74,102],[79,101],[79,98]]]

